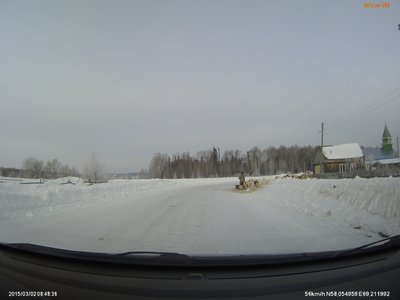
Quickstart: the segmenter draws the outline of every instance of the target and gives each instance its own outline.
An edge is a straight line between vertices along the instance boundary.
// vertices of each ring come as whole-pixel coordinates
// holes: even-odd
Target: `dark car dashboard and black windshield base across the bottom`
[[[276,256],[99,254],[0,245],[0,298],[400,299],[400,249]]]

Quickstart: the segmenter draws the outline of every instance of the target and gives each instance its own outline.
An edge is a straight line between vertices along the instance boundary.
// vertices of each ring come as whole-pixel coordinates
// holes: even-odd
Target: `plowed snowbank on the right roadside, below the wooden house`
[[[381,236],[400,232],[400,178],[274,180],[263,191],[288,209]]]

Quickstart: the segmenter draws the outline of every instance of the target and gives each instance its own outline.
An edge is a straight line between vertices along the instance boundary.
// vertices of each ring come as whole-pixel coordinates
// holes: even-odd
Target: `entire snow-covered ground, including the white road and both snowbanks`
[[[79,178],[21,184],[0,177],[0,241],[97,252],[276,254],[347,249],[400,234],[400,178],[264,179],[262,189],[236,192],[237,178],[88,186]]]

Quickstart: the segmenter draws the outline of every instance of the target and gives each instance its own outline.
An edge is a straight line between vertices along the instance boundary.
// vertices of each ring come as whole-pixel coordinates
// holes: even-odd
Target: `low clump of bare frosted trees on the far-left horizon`
[[[25,178],[60,178],[66,176],[79,176],[79,172],[75,167],[68,164],[62,164],[58,159],[54,158],[43,162],[34,157],[25,158],[22,163],[20,177]]]

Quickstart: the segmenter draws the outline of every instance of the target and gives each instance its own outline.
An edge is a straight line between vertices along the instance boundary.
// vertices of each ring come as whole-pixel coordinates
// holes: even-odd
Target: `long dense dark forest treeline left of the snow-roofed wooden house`
[[[253,147],[247,152],[219,148],[175,155],[156,153],[152,157],[147,176],[150,178],[228,177],[240,172],[248,175],[273,175],[312,170],[317,147],[280,146],[261,150]]]

